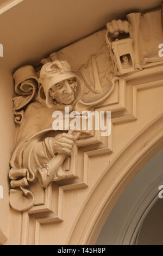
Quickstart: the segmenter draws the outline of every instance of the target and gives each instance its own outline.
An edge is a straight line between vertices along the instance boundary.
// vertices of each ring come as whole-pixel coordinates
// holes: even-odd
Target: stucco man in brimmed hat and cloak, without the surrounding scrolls
[[[55,165],[55,177],[65,176],[60,168],[66,156],[71,155],[76,137],[70,132],[54,131],[52,123],[54,111],[64,113],[65,106],[72,111],[80,90],[80,78],[71,71],[67,61],[55,60],[42,66],[40,71],[41,87],[36,101],[30,103],[24,113],[17,137],[17,146],[12,154],[10,178],[12,187],[23,187],[28,181],[39,178],[39,168],[45,180],[41,179],[41,186],[47,187],[54,178],[50,169]],[[62,161],[58,162],[58,154]],[[56,158],[56,161],[55,161]],[[56,162],[56,163],[55,163]],[[20,180],[20,177],[27,177]],[[43,178],[43,179],[44,179]],[[39,180],[40,181],[40,180]]]

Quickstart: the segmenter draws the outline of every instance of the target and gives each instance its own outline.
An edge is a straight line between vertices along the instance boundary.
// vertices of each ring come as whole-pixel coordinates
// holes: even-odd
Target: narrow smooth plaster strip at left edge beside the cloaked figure
[[[12,113],[13,80],[5,66],[0,65],[0,185],[3,199],[0,199],[0,243],[2,233],[9,234],[9,162],[14,149],[15,124]]]

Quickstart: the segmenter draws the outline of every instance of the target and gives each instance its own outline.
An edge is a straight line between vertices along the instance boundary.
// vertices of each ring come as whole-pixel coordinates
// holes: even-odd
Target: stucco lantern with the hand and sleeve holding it
[[[162,62],[158,56],[159,42],[162,41],[161,10],[131,13],[126,17],[127,20],[107,23],[105,39],[115,76],[141,71],[153,63]]]

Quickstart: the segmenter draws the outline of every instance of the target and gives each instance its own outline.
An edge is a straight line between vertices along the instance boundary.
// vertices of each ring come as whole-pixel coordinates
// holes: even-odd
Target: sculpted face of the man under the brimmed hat
[[[75,77],[61,81],[49,90],[49,95],[59,103],[71,104],[74,101],[74,92],[76,92],[77,81]]]

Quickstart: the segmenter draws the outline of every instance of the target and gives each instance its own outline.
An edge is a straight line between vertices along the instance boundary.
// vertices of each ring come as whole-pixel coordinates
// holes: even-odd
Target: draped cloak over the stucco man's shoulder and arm
[[[36,168],[55,157],[52,142],[61,131],[53,130],[52,114],[58,110],[64,112],[55,105],[48,108],[40,102],[33,102],[24,113],[10,165],[12,168],[26,168],[28,181],[35,180]]]

